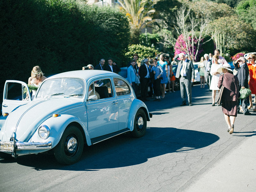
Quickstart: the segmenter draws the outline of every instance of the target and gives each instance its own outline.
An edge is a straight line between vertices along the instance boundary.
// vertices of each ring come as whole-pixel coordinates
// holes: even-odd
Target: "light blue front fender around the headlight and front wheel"
[[[82,127],[87,145],[88,146],[92,145],[91,139],[89,137],[88,130],[87,130],[87,124],[84,125],[84,123],[79,118],[72,116],[72,115],[68,115],[68,114],[63,114],[58,117],[50,117],[47,120],[45,120],[41,125],[47,125],[49,127],[49,129],[50,129],[49,137],[45,140],[43,140],[39,137],[38,129],[41,126],[40,125],[36,129],[36,132],[31,137],[30,142],[51,141],[52,148],[54,148],[59,143],[60,138],[62,137],[62,134],[65,131],[65,129],[67,128],[67,126],[71,123],[78,123]]]

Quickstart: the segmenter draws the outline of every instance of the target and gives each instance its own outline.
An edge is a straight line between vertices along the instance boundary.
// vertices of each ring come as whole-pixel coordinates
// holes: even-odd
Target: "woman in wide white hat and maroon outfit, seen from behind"
[[[218,87],[224,86],[222,92],[222,112],[228,124],[228,132],[232,134],[234,131],[234,123],[237,116],[237,100],[238,100],[238,77],[233,75],[233,71],[228,63],[224,63],[221,68],[217,70],[220,75]]]

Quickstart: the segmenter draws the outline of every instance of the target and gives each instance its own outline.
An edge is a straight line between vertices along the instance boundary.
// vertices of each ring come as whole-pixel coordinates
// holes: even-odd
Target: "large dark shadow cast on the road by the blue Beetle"
[[[73,165],[60,165],[53,156],[31,154],[0,163],[18,163],[35,170],[98,171],[145,163],[149,158],[168,153],[204,148],[219,140],[217,135],[172,127],[147,128],[142,138],[123,134],[92,146],[85,146],[80,161]]]

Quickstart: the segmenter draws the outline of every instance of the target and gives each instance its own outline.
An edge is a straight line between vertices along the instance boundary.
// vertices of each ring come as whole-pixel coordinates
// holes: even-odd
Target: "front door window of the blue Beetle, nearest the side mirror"
[[[101,79],[93,82],[97,97],[99,95],[100,99],[105,99],[114,96],[110,82],[110,79]]]

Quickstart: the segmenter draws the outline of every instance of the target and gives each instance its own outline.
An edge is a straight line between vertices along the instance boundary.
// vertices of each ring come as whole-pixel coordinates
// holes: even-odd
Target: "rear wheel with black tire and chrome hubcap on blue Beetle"
[[[140,138],[145,135],[147,129],[147,117],[143,109],[139,109],[135,115],[132,137]]]

